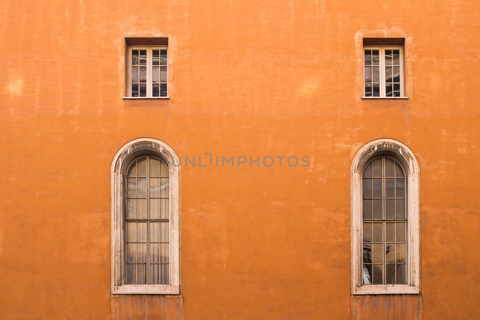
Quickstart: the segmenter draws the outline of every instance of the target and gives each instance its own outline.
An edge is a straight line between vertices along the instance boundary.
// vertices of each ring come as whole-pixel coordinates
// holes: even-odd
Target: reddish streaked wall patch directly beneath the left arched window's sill
[[[181,296],[112,296],[111,320],[183,319]]]

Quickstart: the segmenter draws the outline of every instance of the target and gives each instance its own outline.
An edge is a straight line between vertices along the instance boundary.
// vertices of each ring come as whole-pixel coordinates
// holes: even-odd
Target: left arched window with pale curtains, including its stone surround
[[[152,138],[125,144],[112,163],[112,293],[180,293],[180,167]]]

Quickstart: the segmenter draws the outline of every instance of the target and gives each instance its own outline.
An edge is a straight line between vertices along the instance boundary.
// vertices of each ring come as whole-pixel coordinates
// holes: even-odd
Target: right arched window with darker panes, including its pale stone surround
[[[420,172],[392,139],[355,155],[352,187],[352,294],[419,293]]]

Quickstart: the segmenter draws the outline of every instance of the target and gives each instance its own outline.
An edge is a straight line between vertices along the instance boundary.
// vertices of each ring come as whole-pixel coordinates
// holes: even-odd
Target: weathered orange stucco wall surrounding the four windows
[[[1,319],[476,319],[478,1],[0,4]],[[169,38],[170,100],[122,100],[124,38]],[[408,100],[361,100],[362,37],[404,37]],[[110,296],[114,154],[309,155],[183,167],[182,296]],[[349,170],[421,168],[421,295],[350,296]]]

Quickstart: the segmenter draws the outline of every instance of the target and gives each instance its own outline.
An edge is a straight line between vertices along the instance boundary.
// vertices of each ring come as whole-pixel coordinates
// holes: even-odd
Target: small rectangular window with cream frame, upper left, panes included
[[[128,96],[168,97],[168,47],[128,48]]]

